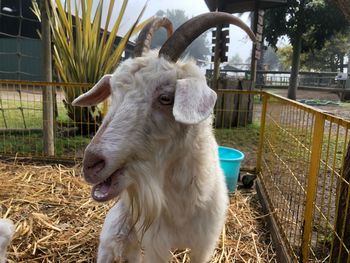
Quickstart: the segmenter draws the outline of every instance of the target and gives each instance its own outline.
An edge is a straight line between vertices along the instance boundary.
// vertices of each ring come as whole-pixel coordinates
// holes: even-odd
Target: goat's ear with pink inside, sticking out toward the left
[[[112,75],[104,75],[88,92],[76,98],[72,105],[93,106],[107,99],[111,95],[111,77]]]

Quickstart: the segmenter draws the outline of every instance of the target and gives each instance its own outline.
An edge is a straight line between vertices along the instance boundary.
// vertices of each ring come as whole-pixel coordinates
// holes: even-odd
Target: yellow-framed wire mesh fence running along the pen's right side
[[[349,186],[343,167],[350,122],[266,96],[261,179],[291,255],[302,262],[349,262],[349,196],[339,189]]]

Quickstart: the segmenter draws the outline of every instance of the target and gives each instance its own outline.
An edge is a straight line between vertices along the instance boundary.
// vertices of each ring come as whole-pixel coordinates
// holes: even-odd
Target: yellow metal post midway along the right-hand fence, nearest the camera
[[[323,144],[325,116],[320,113],[315,113],[315,126],[312,136],[311,160],[308,175],[308,185],[306,189],[306,203],[304,211],[304,223],[301,243],[301,259],[300,262],[309,262],[309,244],[312,234],[312,219],[313,210],[317,190],[317,176],[320,169],[320,159]]]

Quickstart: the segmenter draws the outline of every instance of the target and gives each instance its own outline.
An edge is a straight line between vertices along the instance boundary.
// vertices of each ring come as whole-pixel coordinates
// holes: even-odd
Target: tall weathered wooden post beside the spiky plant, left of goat
[[[41,1],[41,42],[43,49],[43,79],[46,82],[52,82],[52,63],[51,63],[51,32],[49,18],[47,14],[48,1]],[[54,112],[53,95],[51,86],[43,86],[43,140],[44,154],[53,156],[55,154],[54,145]]]

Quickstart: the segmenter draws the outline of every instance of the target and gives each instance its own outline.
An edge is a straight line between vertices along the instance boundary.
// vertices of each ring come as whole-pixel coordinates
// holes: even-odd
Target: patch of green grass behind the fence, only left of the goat
[[[1,100],[0,108],[0,153],[40,156],[43,154],[43,112],[42,101],[17,99]],[[56,124],[68,126],[71,121],[63,103],[57,105]],[[5,130],[6,129],[6,130]],[[80,156],[82,149],[91,138],[79,135],[55,137],[55,155],[64,157]]]

